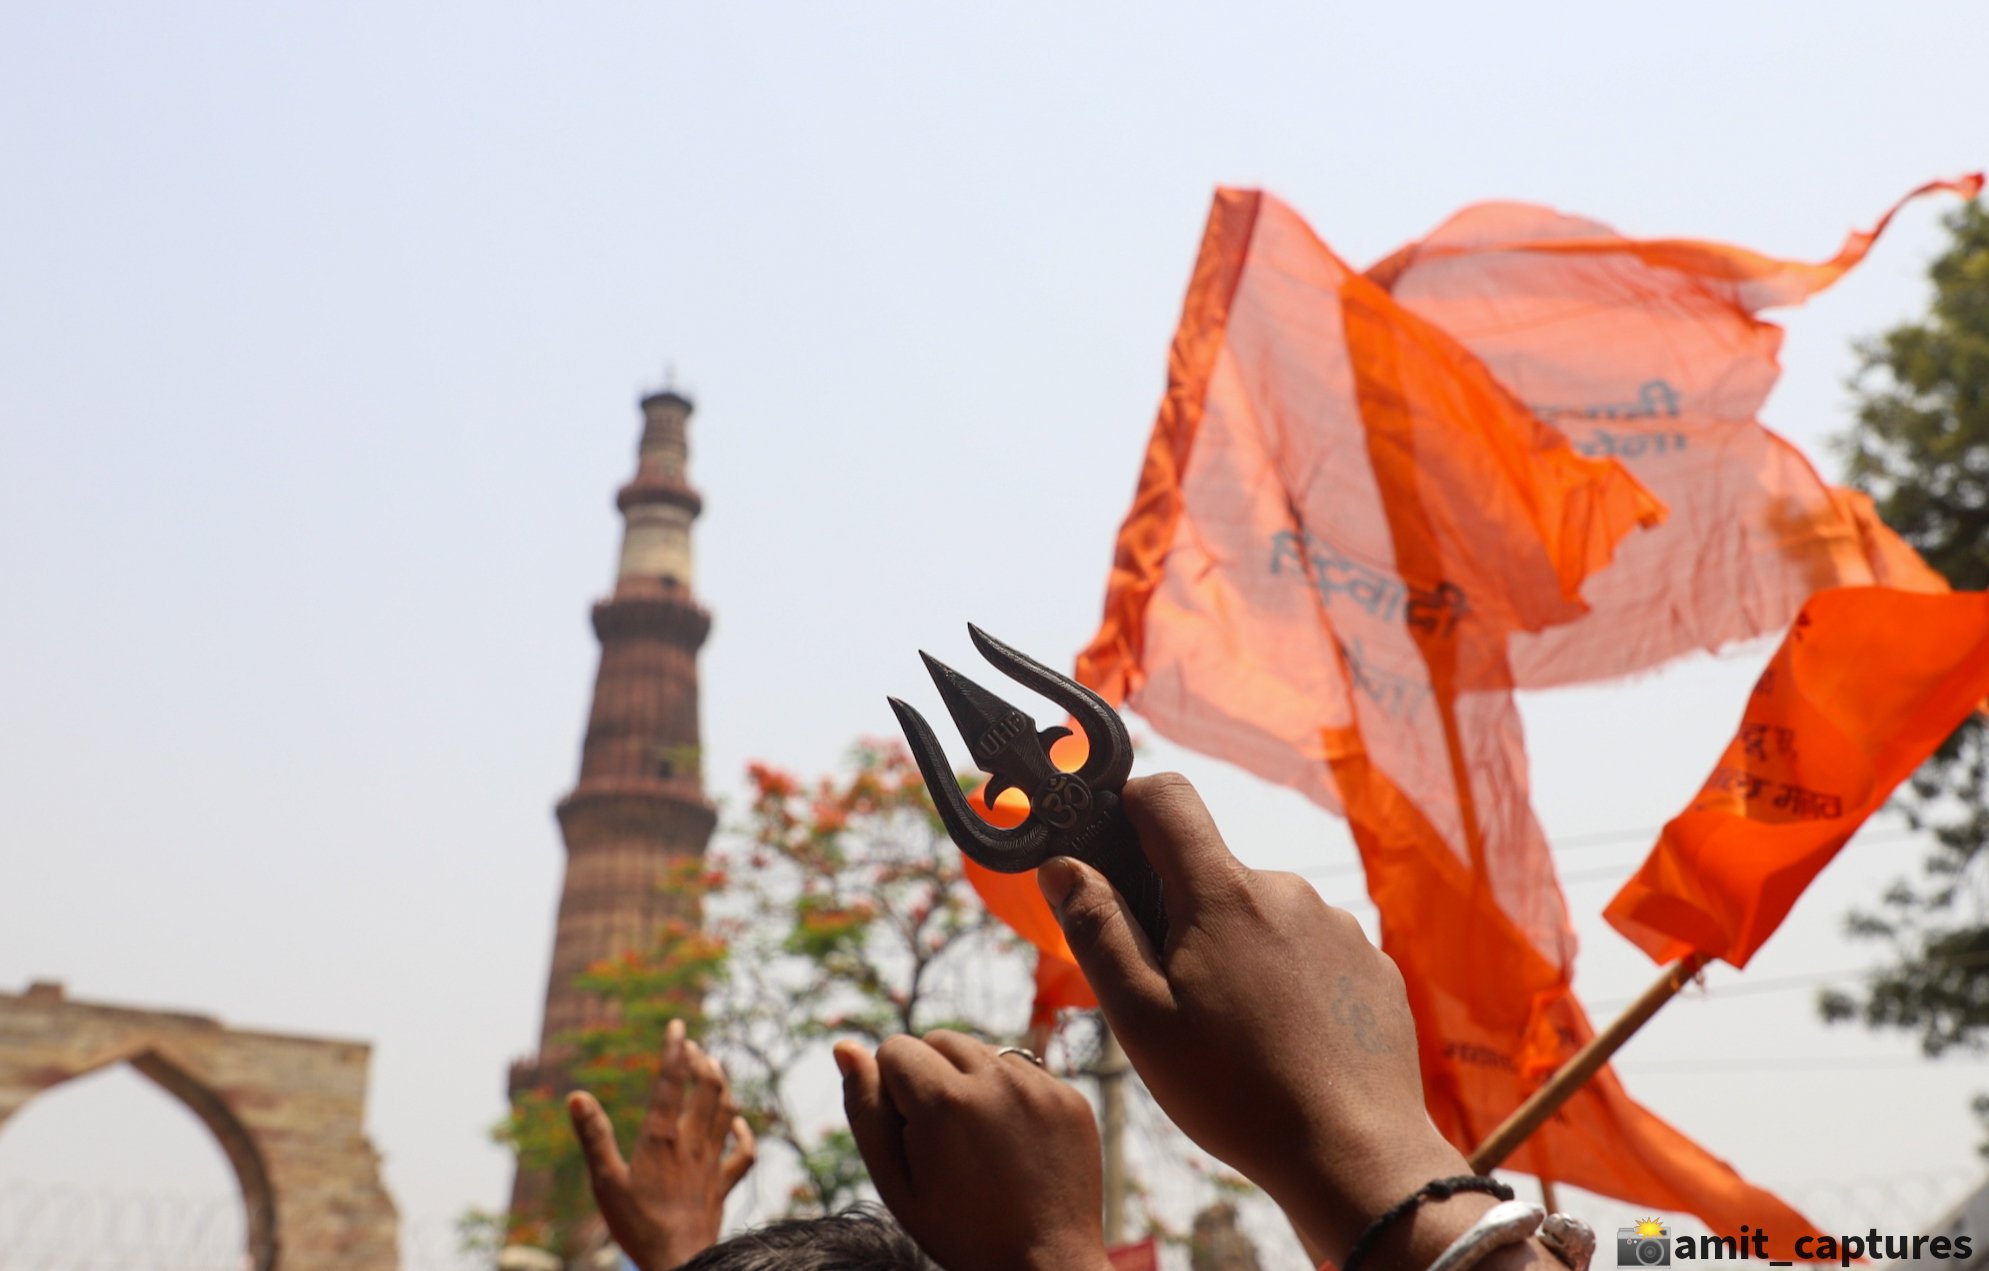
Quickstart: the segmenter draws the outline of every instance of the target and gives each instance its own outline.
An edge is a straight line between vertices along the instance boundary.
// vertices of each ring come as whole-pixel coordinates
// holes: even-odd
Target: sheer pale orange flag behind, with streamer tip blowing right
[[[1979,189],[1971,175],[1907,199]],[[1366,271],[1577,450],[1621,459],[1671,507],[1583,589],[1587,617],[1514,638],[1520,686],[1623,676],[1770,635],[1824,587],[1945,589],[1864,495],[1826,485],[1754,418],[1782,344],[1758,310],[1836,282],[1898,209],[1812,265],[1482,203]]]

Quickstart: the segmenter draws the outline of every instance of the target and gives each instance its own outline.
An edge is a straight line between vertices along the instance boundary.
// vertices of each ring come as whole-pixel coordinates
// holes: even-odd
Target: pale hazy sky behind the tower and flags
[[[736,796],[748,758],[889,732],[913,648],[973,660],[967,619],[1086,640],[1213,185],[1356,263],[1492,197],[1824,257],[1989,161],[1985,36],[1963,2],[10,4],[0,985],[370,1038],[404,1213],[495,1205],[587,605],[664,364],[700,406]],[[1786,314],[1768,420],[1826,471],[1850,340],[1923,304],[1939,209]],[[1764,654],[1526,698],[1597,1014],[1651,969],[1595,913]],[[1154,762],[1255,863],[1358,897],[1325,814]],[[1870,961],[1842,913],[1915,859],[1876,827],[1623,1060],[1820,1221],[1818,1183],[1977,1170],[1979,1066],[1786,985]],[[24,1112],[0,1180],[213,1164],[171,1106],[151,1134],[91,1098]]]

